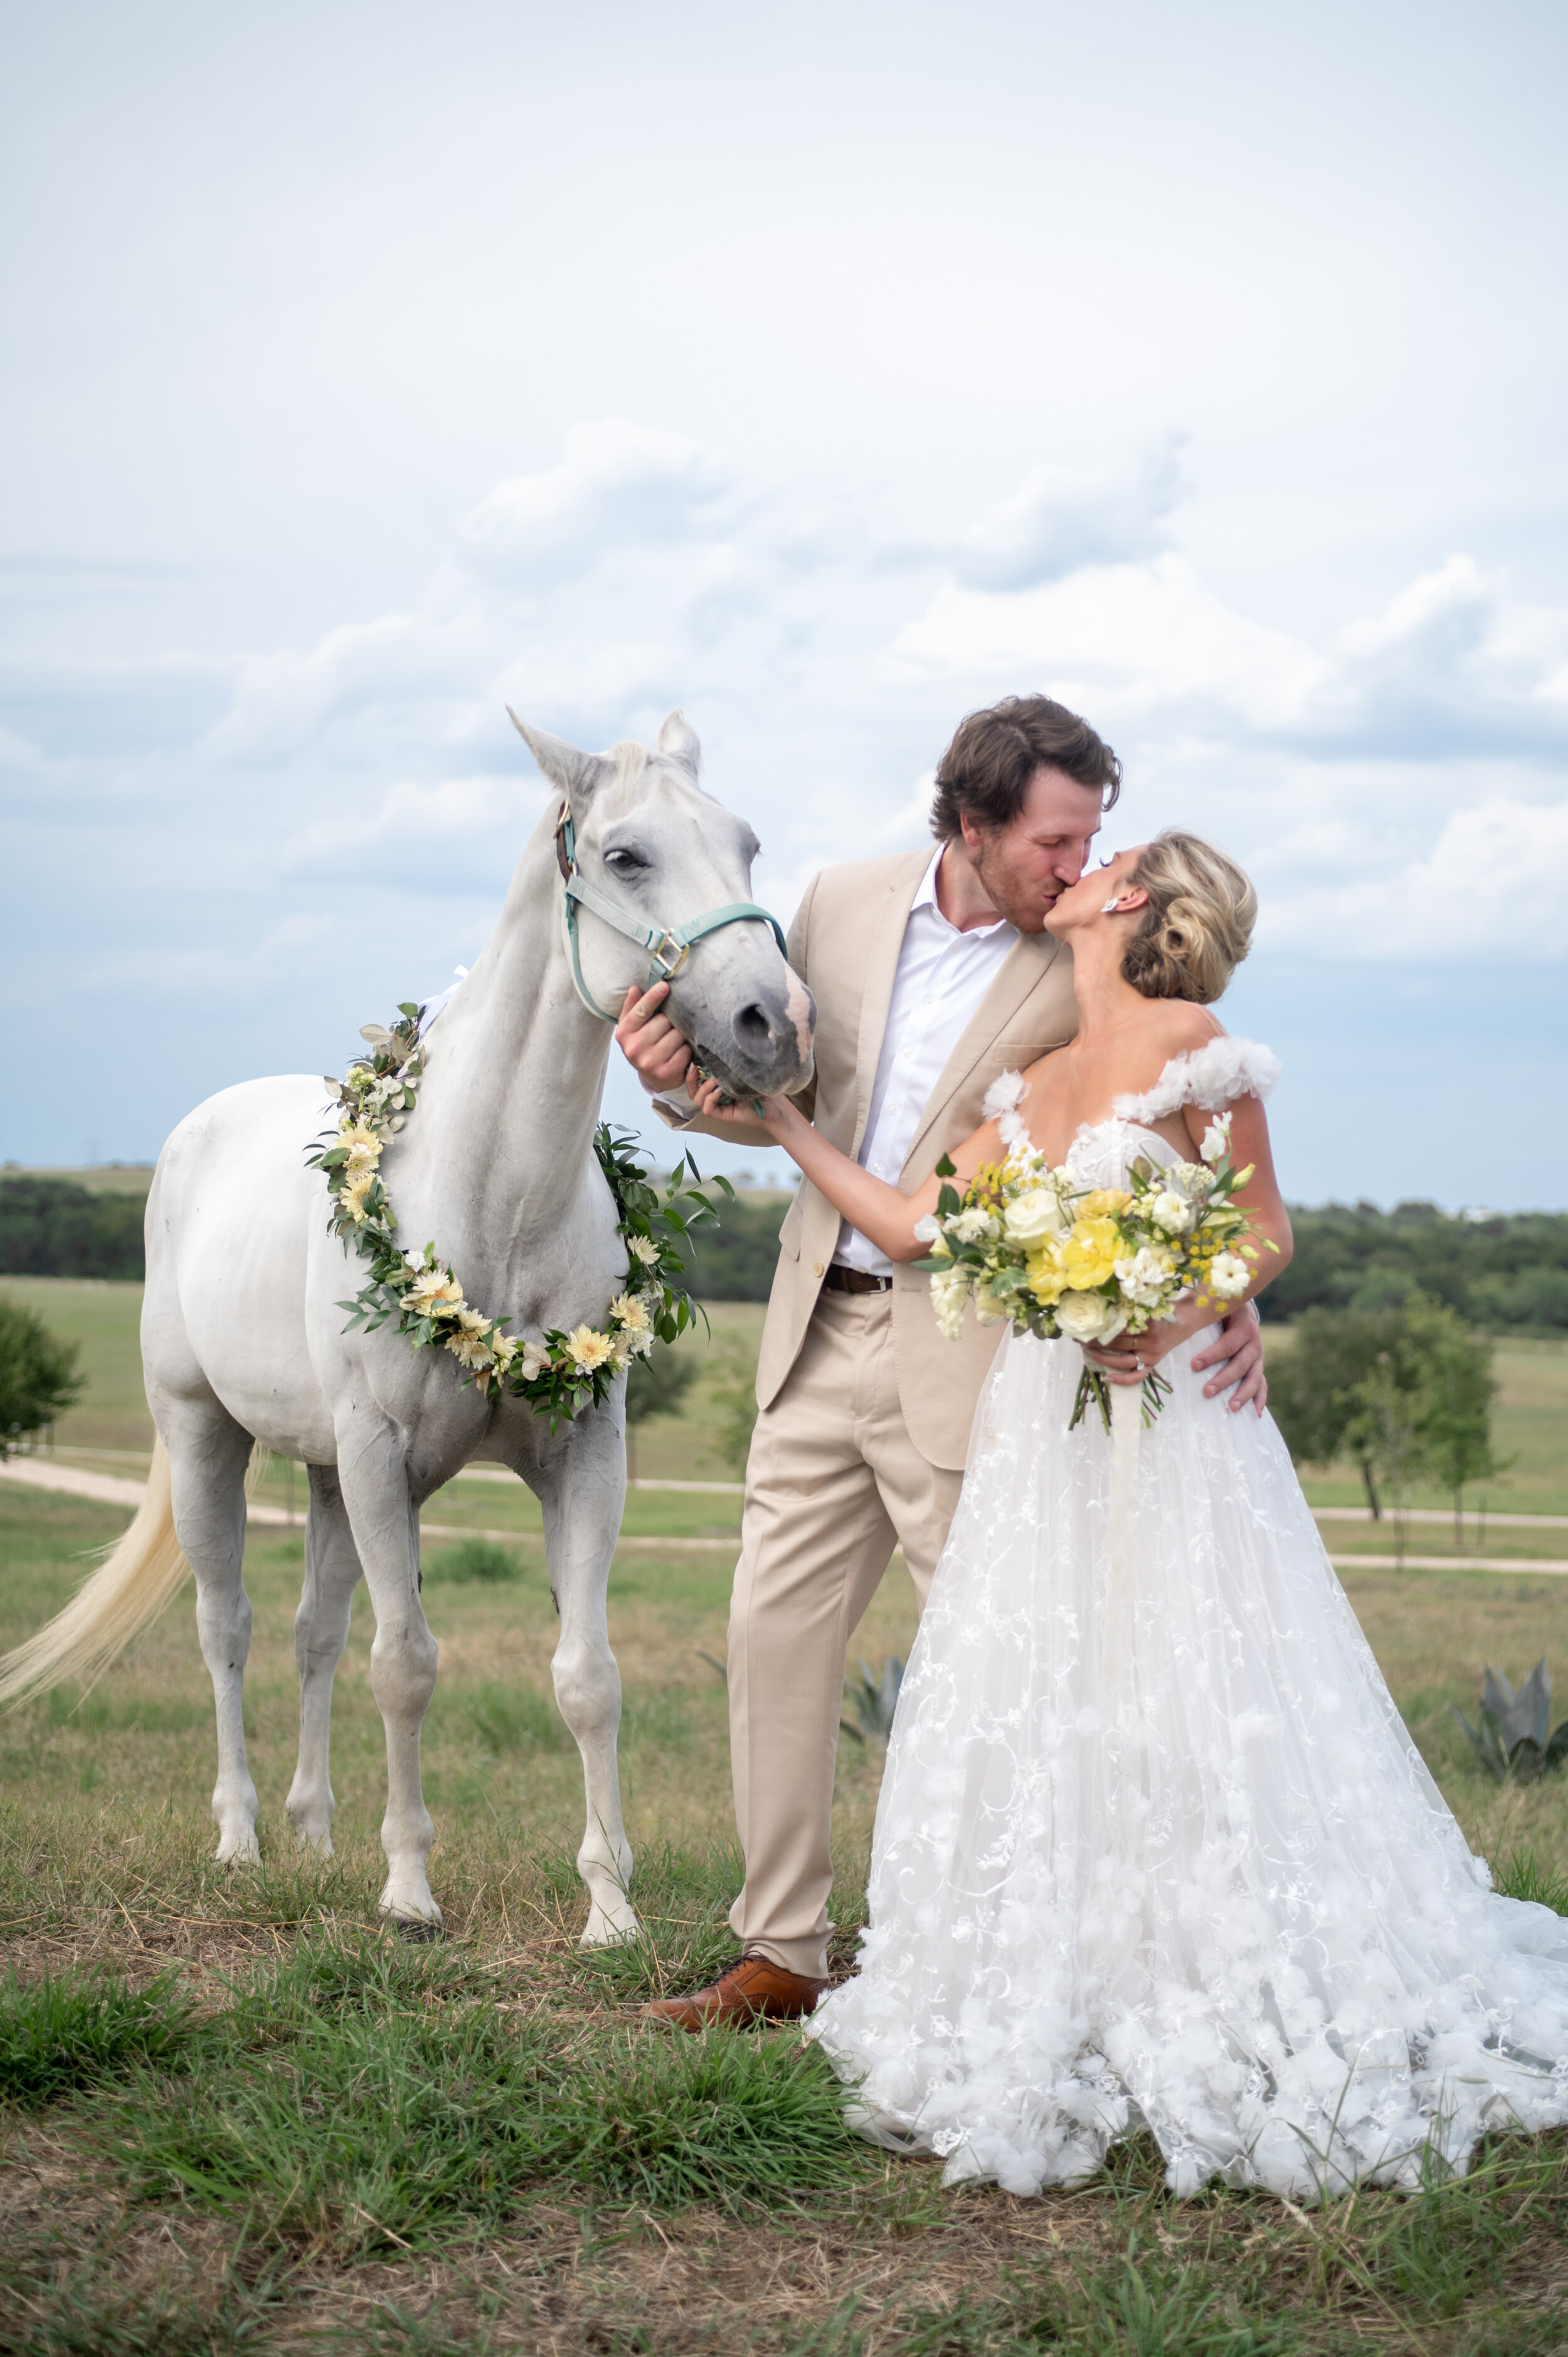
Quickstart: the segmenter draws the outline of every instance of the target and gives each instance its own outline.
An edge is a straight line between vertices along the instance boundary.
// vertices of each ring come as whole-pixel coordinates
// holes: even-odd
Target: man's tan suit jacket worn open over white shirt
[[[816,999],[816,1080],[799,1098],[825,1138],[861,1150],[898,950],[931,851],[823,867],[790,926],[790,964]],[[990,1082],[1021,1070],[1078,1030],[1073,959],[1047,933],[1019,936],[976,1006],[927,1098],[898,1186],[913,1195],[955,1146],[981,1127]],[[736,1138],[733,1124],[691,1122]],[[757,1143],[771,1143],[757,1129]],[[778,1235],[778,1270],[757,1362],[757,1405],[771,1407],[799,1358],[816,1296],[839,1240],[839,1214],[809,1178]],[[936,1466],[962,1471],[974,1407],[997,1351],[997,1329],[964,1318],[960,1341],[943,1341],[929,1280],[894,1273],[894,1353],[910,1440]]]

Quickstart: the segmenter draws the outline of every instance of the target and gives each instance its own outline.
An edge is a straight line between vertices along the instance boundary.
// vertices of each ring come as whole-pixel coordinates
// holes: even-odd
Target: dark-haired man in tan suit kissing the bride
[[[934,853],[825,867],[806,886],[790,926],[790,964],[816,997],[816,1080],[802,1108],[863,1169],[915,1190],[979,1129],[1000,1072],[1073,1037],[1070,952],[1045,919],[1085,872],[1120,775],[1087,721],[1049,695],[1009,695],[971,712],[941,757]],[[771,1146],[762,1127],[693,1117],[691,1049],[663,997],[627,995],[615,1030],[660,1117]],[[927,1277],[887,1261],[802,1181],[762,1332],[729,1619],[745,1853],[729,1919],[740,1956],[651,2015],[681,2029],[790,2020],[828,1987],[844,1648],[894,1546],[924,1605],[995,1348],[997,1329],[974,1318],[957,1343],[943,1341]],[[1257,1310],[1233,1313],[1193,1369],[1214,1369],[1210,1393],[1236,1386],[1236,1407],[1261,1400]]]

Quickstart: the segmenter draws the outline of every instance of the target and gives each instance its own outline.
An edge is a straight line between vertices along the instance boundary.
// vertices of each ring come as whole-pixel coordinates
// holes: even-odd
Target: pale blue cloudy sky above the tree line
[[[1111,844],[1259,882],[1292,1197],[1568,1204],[1559,5],[61,0],[0,59],[0,1157],[151,1157],[469,964],[505,702],[681,705],[788,917],[1047,688]]]

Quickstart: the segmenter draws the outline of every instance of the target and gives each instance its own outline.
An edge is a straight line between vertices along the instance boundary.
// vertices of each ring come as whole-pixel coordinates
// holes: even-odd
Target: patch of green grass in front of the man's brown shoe
[[[495,2234],[531,2194],[743,2209],[865,2178],[816,2048],[516,2018],[465,1978],[332,1968],[243,1999],[222,2067],[146,2072],[94,2133],[132,2201],[340,2256]]]

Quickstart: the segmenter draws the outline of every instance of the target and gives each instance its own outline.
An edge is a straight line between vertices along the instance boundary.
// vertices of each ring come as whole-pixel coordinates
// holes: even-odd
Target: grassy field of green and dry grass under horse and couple
[[[137,1289],[7,1289],[85,1339],[94,1381],[57,1450],[134,1471],[149,1438]],[[714,1322],[755,1334],[757,1318]],[[1563,1511],[1568,1362],[1511,1346],[1500,1367],[1502,1440],[1526,1454],[1493,1504]],[[691,1417],[646,1428],[646,1475],[722,1478],[700,1388],[689,1400]],[[269,1494],[285,1494],[278,1468]],[[1318,1494],[1332,1501],[1332,1483]],[[549,1699],[554,1615],[516,1485],[469,1478],[429,1511],[514,1532],[514,1577],[495,1584],[453,1579],[450,1551],[427,1544],[441,1947],[373,1926],[384,1756],[363,1603],[337,1676],[337,1860],[302,1867],[288,1846],[297,1532],[257,1530],[245,1563],[259,1871],[207,1862],[212,1704],[189,1596],[80,1709],[54,1697],[0,1721],[14,1975],[0,1985],[0,2350],[1563,2348],[1563,2138],[1500,2143],[1460,2187],[1363,2194],[1316,2218],[1240,2194],[1172,2204],[1146,2145],[1070,2194],[943,2194],[929,2166],[844,2133],[832,2086],[790,2034],[677,2046],[634,2027],[639,1996],[731,1952],[724,1688],[700,1655],[722,1655],[736,1504],[637,1492],[627,1516],[648,1541],[663,1523],[670,1541],[625,1549],[611,1591],[648,1933],[630,1952],[575,1945],[582,1787]],[[83,1551],[123,1520],[0,1485],[0,1645],[64,1600]],[[1568,1553],[1566,1532],[1516,1537]],[[1521,1558],[1518,1574],[1389,1567],[1351,1572],[1346,1589],[1471,1843],[1568,1904],[1568,1787],[1497,1791],[1448,1711],[1474,1706],[1485,1659],[1509,1673],[1540,1652],[1568,1659],[1568,1579],[1530,1577]],[[854,1650],[877,1666],[910,1633],[894,1567]],[[879,1765],[875,1747],[844,1742],[839,1968],[863,1914]]]

